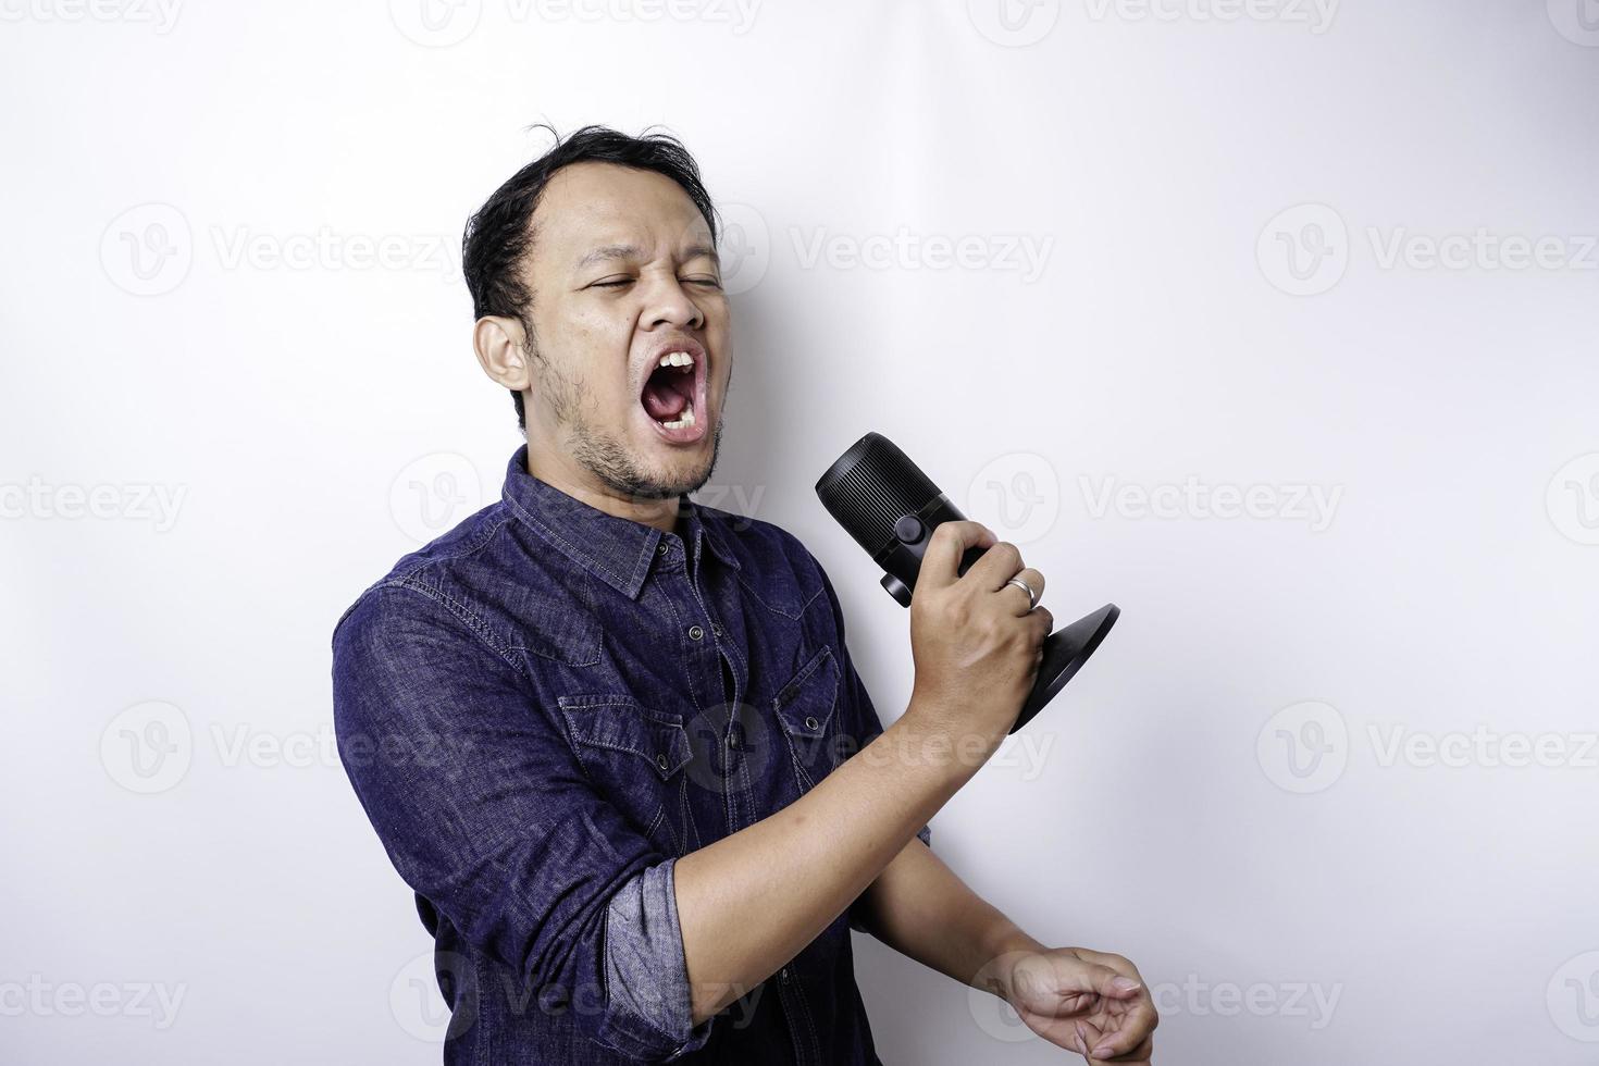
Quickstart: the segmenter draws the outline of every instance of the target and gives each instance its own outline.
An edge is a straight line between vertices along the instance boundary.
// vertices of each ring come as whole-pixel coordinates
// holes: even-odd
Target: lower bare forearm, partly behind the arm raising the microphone
[[[900,954],[1001,997],[1014,961],[1007,956],[1046,949],[921,841],[867,889],[860,913],[867,930]]]

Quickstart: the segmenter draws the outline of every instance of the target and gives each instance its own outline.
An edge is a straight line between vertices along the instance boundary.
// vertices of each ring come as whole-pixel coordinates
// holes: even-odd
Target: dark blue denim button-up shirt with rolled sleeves
[[[771,523],[681,497],[660,532],[526,459],[333,634],[339,756],[433,937],[445,1063],[878,1063],[854,906],[694,1028],[673,890],[883,730],[831,582]]]

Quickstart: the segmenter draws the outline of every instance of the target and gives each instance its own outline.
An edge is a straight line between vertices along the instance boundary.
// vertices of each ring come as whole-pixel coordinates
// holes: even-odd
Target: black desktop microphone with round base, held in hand
[[[871,561],[886,571],[883,588],[903,607],[910,607],[932,531],[942,523],[966,521],[950,497],[881,433],[867,433],[851,444],[815,483],[815,494],[838,524],[871,555]],[[967,548],[958,572],[966,574],[985,551],[988,548]],[[1033,692],[1007,732],[1022,729],[1044,710],[1100,646],[1119,615],[1116,604],[1105,604],[1044,639],[1044,658]]]

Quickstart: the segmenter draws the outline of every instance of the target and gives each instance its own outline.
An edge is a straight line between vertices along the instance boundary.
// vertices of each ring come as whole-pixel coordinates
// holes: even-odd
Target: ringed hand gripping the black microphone
[[[982,555],[961,574],[971,548]],[[1038,606],[1043,591],[1044,575],[988,527],[948,521],[934,529],[910,603],[915,713],[940,732],[998,748],[1033,690],[1054,628]]]

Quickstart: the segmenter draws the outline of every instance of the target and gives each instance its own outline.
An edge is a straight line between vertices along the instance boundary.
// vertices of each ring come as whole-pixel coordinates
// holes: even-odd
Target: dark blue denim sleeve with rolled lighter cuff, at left
[[[571,994],[641,1061],[704,1047],[662,855],[584,775],[531,679],[421,587],[368,590],[333,638],[339,758],[390,861],[461,935]]]

